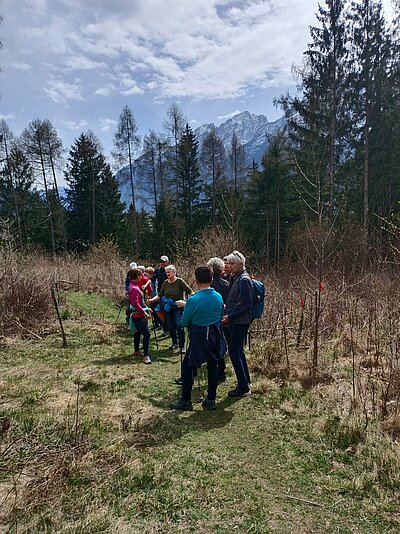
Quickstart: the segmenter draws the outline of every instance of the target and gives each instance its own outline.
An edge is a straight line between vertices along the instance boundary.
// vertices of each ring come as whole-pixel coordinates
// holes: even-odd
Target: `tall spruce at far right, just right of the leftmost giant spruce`
[[[384,151],[384,86],[389,70],[390,40],[382,15],[380,0],[353,1],[350,12],[352,23],[352,61],[349,81],[351,86],[352,132],[355,150],[355,176],[362,194],[362,227],[364,245],[369,243],[371,208],[379,210],[379,190],[385,184],[381,173],[380,154]],[[362,169],[361,175],[357,169]],[[375,189],[371,191],[371,186]],[[380,227],[380,222],[378,223]]]

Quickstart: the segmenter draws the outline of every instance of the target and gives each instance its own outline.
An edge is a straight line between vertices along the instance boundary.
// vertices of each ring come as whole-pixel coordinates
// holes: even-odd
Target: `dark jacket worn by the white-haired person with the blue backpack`
[[[225,315],[231,324],[250,324],[252,321],[253,283],[246,269],[231,279]]]

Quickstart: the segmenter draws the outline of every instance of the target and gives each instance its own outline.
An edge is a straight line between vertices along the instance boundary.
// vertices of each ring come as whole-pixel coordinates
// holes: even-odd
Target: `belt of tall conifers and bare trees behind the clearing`
[[[364,264],[388,259],[400,208],[399,0],[393,7],[389,23],[380,0],[321,2],[295,68],[298,93],[276,101],[286,129],[261,165],[245,164],[236,134],[229,150],[213,131],[199,146],[176,105],[162,132],[140,139],[124,106],[112,157],[129,206],[95,133],[67,151],[47,119],[20,136],[1,120],[4,238],[56,254],[111,237],[123,253],[152,258],[212,229],[271,267],[300,259],[322,269],[344,251]]]

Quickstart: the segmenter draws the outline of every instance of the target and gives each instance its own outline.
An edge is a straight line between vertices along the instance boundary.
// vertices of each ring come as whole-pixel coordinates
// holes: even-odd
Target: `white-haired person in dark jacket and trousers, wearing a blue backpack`
[[[246,271],[246,258],[243,254],[234,250],[227,261],[232,278],[222,324],[228,330],[228,353],[237,379],[237,386],[228,395],[241,397],[250,393],[251,380],[244,344],[252,321],[253,284]]]

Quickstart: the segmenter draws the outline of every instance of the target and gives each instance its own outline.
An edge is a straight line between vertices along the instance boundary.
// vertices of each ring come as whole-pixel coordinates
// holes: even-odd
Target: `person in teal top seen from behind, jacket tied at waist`
[[[218,386],[218,361],[226,352],[221,319],[224,314],[222,297],[211,286],[212,269],[202,265],[195,270],[198,291],[186,302],[182,326],[188,327],[190,344],[182,362],[182,396],[171,403],[174,410],[193,410],[191,401],[196,369],[207,362],[208,389],[203,406],[215,410]]]

